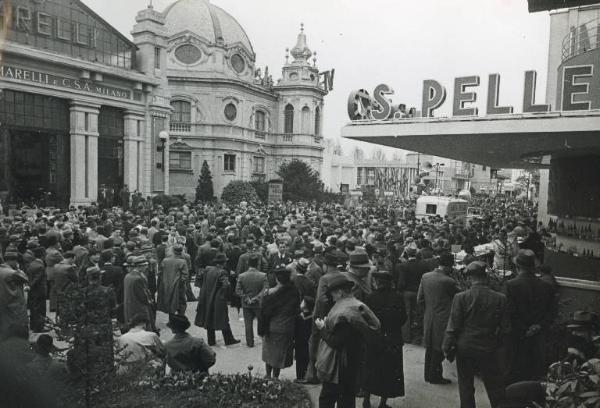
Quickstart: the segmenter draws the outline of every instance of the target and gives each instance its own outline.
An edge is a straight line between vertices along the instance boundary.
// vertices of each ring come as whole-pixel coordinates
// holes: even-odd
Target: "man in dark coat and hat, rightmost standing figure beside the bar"
[[[533,251],[519,250],[514,263],[518,275],[506,283],[512,325],[508,384],[537,381],[545,375],[545,334],[557,313],[552,286],[535,275]]]

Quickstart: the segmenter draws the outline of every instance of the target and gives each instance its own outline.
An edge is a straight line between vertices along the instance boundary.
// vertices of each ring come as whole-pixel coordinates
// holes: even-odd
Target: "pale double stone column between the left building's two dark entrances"
[[[98,114],[100,106],[71,102],[71,205],[98,199]]]

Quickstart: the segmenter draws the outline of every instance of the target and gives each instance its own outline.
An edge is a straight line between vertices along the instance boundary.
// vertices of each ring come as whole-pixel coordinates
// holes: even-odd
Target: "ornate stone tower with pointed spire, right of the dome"
[[[317,53],[308,47],[304,24],[300,25],[296,45],[286,50],[285,59],[282,78],[274,87],[279,99],[279,133],[284,140],[311,138],[320,146],[323,98],[327,91],[320,84]],[[298,156],[303,155],[299,152]],[[322,160],[310,164],[321,171]]]

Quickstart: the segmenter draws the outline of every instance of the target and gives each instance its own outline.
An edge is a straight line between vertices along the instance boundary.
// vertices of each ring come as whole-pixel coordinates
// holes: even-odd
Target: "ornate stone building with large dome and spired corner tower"
[[[134,42],[147,64],[154,60],[161,97],[172,109],[155,120],[154,192],[162,184],[165,192],[193,198],[204,161],[216,196],[232,180],[277,178],[284,160],[321,172],[327,90],[303,27],[275,82],[268,68],[258,68],[243,27],[209,0],[144,10],[137,22]]]

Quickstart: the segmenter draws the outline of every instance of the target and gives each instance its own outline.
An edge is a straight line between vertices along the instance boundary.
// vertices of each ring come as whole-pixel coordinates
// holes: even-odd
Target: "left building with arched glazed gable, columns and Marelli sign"
[[[170,105],[138,47],[77,0],[0,12],[0,198],[88,204],[125,184],[149,194],[152,118]]]

